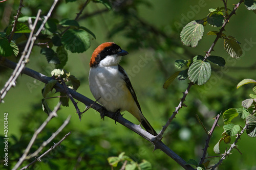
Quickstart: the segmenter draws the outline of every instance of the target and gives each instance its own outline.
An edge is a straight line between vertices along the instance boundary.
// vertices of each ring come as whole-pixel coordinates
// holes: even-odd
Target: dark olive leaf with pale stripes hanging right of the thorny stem
[[[238,44],[236,38],[230,35],[228,38],[224,39],[224,49],[232,58],[239,58],[243,54],[242,48]]]

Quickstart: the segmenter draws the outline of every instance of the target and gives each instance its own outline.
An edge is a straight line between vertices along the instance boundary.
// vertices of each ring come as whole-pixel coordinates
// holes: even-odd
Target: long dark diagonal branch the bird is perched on
[[[15,66],[16,66],[16,63],[14,63],[10,60],[5,60],[4,62],[2,62],[0,64],[5,65],[5,66],[7,66],[9,68],[12,68],[12,69],[14,69]],[[34,79],[37,79],[41,82],[44,82],[44,83],[48,83],[50,80],[53,80],[53,78],[51,78],[51,77],[47,77],[45,75],[40,74],[37,71],[34,71],[34,70],[26,68],[26,67],[23,69],[22,73],[25,74],[25,75],[28,75],[28,76],[30,76]],[[63,85],[61,85],[60,83],[56,83],[54,88],[57,91],[65,92],[65,89],[64,89]],[[90,100],[86,96],[76,92],[73,89],[69,89],[69,92],[73,96],[74,99],[84,103],[86,106],[91,105],[91,108],[93,108],[94,110],[102,113],[102,106],[99,105],[98,103],[95,103],[94,101]],[[108,117],[113,119],[113,113],[112,112],[105,112],[104,114],[105,114],[105,116],[108,116]],[[135,133],[139,134],[140,136],[142,136],[146,140],[153,143],[155,145],[155,149],[160,149],[161,151],[163,151],[166,155],[168,155],[170,158],[174,159],[177,163],[179,163],[184,169],[194,169],[190,165],[187,165],[185,160],[183,160],[174,151],[170,150],[162,141],[158,140],[155,136],[153,136],[152,134],[143,130],[139,125],[135,125],[135,124],[131,123],[129,120],[126,120],[122,116],[118,116],[115,120],[116,120],[116,122],[118,122],[121,125],[131,129]]]

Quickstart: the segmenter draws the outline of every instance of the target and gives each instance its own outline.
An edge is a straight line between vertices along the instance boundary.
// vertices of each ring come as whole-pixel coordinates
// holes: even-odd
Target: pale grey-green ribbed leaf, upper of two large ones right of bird
[[[202,20],[193,20],[189,22],[181,31],[180,38],[184,45],[196,47],[202,39],[204,26]]]

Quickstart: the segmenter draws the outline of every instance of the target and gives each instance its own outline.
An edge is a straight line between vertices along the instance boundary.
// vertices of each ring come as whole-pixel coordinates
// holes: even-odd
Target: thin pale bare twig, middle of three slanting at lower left
[[[32,157],[37,156],[39,152],[41,152],[41,150],[44,149],[46,145],[50,143],[59,134],[59,132],[61,132],[69,124],[70,118],[71,116],[69,115],[65,122],[59,127],[59,129],[55,133],[53,133],[47,141],[42,142],[41,146],[33,154],[27,156],[26,159],[30,159]]]

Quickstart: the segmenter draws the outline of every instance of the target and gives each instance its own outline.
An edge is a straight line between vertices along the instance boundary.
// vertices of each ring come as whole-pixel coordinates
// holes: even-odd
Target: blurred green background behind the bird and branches
[[[63,18],[74,19],[85,1],[65,3],[60,1],[53,11],[52,17],[61,20]],[[228,8],[238,1],[228,1]],[[9,0],[0,4],[1,26],[3,31],[11,22],[18,8],[19,1]],[[24,1],[22,14],[24,16],[35,16],[38,9],[46,15],[52,5],[52,1]],[[82,54],[69,52],[69,60],[65,69],[75,75],[81,86],[79,93],[94,100],[88,83],[89,61],[94,49],[103,42],[115,42],[129,55],[123,57],[121,65],[125,70],[130,70],[130,78],[137,93],[142,112],[151,125],[159,132],[165,125],[167,118],[175,111],[179,104],[182,93],[187,88],[188,80],[175,80],[169,88],[163,89],[165,80],[178,71],[174,61],[178,59],[192,59],[196,55],[204,55],[208,51],[215,36],[207,36],[210,30],[218,31],[209,25],[204,27],[204,36],[196,48],[186,47],[180,42],[179,34],[186,23],[207,16],[210,8],[222,7],[222,1],[115,1],[114,10],[106,11],[99,3],[90,3],[81,15],[80,26],[87,27],[95,35],[92,36],[91,47]],[[96,11],[104,12],[94,14]],[[199,115],[204,126],[210,130],[214,118],[218,113],[228,108],[240,108],[241,102],[247,99],[251,91],[251,85],[236,89],[237,84],[244,78],[255,78],[255,23],[256,15],[248,11],[244,4],[239,7],[236,15],[233,15],[226,26],[225,34],[232,35],[241,43],[243,56],[240,59],[232,59],[223,48],[223,40],[220,39],[214,48],[212,55],[221,56],[226,59],[224,68],[212,65],[211,79],[203,86],[193,86],[186,98],[185,104],[176,119],[168,127],[164,134],[163,142],[184,160],[195,159],[198,162],[204,148],[205,134],[199,124],[196,114]],[[124,27],[120,27],[120,26]],[[118,31],[118,28],[119,31]],[[251,43],[249,43],[251,42]],[[51,76],[50,72],[54,65],[48,64],[44,55],[40,53],[40,47],[34,46],[27,67],[42,74]],[[18,58],[9,57],[10,60],[18,61]],[[138,62],[143,60],[145,65],[139,66]],[[0,87],[11,75],[12,70],[0,67]],[[47,114],[41,109],[41,89],[44,84],[26,75],[17,79],[16,87],[12,88],[6,95],[5,103],[0,105],[2,113],[8,113],[8,135],[9,135],[9,166],[1,169],[11,169],[22,155],[35,129],[47,118]],[[56,96],[57,94],[52,94]],[[48,103],[51,108],[57,104],[57,99],[50,99]],[[85,106],[78,103],[80,110]],[[141,162],[146,159],[152,163],[152,169],[182,169],[174,160],[163,152],[153,152],[153,145],[133,133],[131,130],[121,126],[114,120],[100,119],[98,112],[90,109],[83,114],[82,120],[78,119],[75,108],[70,103],[69,107],[61,107],[58,117],[53,118],[47,128],[39,134],[32,151],[35,151],[42,141],[47,140],[53,132],[63,123],[68,115],[71,115],[69,125],[53,140],[57,142],[69,131],[72,134],[62,142],[61,147],[52,151],[48,156],[31,166],[31,169],[111,169],[107,162],[110,156],[117,156],[121,152],[131,157],[134,161]],[[124,117],[138,124],[137,120],[130,114]],[[4,116],[0,117],[3,127]],[[244,126],[240,119],[236,123]],[[217,156],[214,153],[214,145],[221,138],[223,132],[223,119],[219,121],[214,135],[209,144],[208,156]],[[3,135],[3,131],[1,131]],[[234,141],[232,138],[231,142]],[[239,140],[239,150],[232,151],[232,155],[224,160],[219,169],[256,169],[255,139],[242,135]],[[0,143],[3,148],[3,142]],[[48,144],[46,149],[53,143]],[[223,153],[229,144],[221,143]],[[1,149],[2,153],[2,149]],[[211,158],[210,164],[218,162],[220,158]],[[2,160],[2,155],[1,155]],[[28,162],[31,162],[31,159]],[[25,162],[23,165],[28,164]],[[121,164],[119,164],[119,168]],[[117,168],[118,169],[118,168]]]

